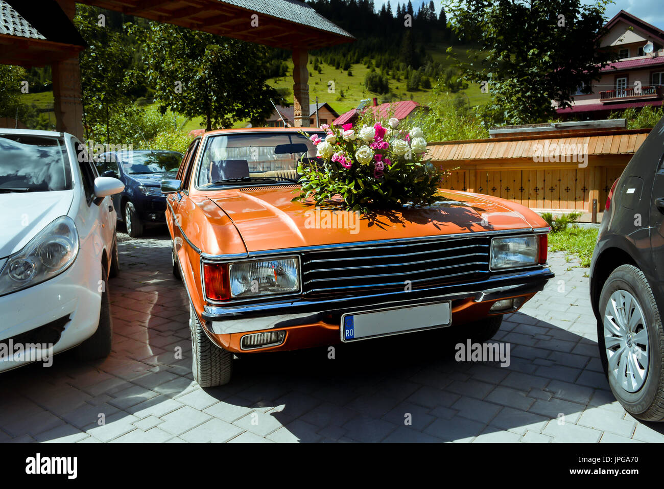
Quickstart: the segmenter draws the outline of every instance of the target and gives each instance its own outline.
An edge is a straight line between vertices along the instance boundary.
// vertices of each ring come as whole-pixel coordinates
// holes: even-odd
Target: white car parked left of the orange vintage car
[[[0,128],[0,371],[77,345],[82,359],[110,353],[110,195],[123,189],[71,134]]]

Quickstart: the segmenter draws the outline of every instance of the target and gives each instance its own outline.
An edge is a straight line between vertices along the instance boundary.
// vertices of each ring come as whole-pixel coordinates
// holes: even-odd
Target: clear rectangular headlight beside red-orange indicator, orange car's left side
[[[228,264],[231,298],[291,294],[299,290],[297,256]]]

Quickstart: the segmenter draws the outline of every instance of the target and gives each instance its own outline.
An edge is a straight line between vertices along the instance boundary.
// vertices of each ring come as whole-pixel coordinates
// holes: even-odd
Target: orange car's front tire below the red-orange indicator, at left
[[[212,343],[189,305],[191,330],[191,371],[201,387],[216,387],[230,382],[233,371],[233,353]]]

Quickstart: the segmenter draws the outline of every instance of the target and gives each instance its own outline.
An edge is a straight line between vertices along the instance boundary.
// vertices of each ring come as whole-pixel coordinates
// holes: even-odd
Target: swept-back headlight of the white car
[[[58,217],[22,250],[7,258],[0,272],[0,296],[44,282],[66,270],[78,254],[78,233],[70,217]]]

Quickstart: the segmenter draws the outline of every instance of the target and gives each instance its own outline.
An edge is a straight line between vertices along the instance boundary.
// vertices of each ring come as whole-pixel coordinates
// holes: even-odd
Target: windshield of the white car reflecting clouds
[[[0,193],[71,188],[69,157],[62,138],[0,134]]]

